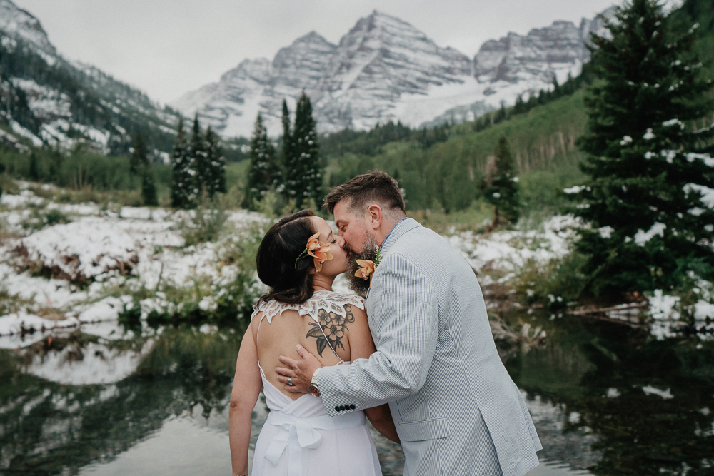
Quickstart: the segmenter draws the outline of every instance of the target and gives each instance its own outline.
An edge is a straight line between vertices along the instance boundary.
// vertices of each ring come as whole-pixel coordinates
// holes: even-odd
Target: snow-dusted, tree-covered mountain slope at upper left
[[[166,160],[178,114],[100,69],[64,59],[38,19],[0,0],[0,142],[126,153],[136,133]],[[1,129],[0,129],[1,131]],[[10,134],[11,132],[12,134]]]

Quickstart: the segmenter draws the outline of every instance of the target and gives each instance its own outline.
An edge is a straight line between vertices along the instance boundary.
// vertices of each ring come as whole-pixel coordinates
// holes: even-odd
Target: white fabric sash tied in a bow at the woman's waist
[[[322,442],[322,434],[317,430],[341,430],[364,425],[364,412],[338,417],[298,418],[273,411],[268,415],[268,423],[278,427],[278,432],[266,451],[265,459],[277,465],[288,448],[288,476],[301,476],[303,448],[316,448]]]

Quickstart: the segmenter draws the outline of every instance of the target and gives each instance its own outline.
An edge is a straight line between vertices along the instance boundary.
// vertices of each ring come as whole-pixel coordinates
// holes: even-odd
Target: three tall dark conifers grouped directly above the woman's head
[[[304,91],[298,99],[292,127],[288,104],[283,99],[282,123],[283,140],[278,153],[258,113],[251,138],[251,168],[243,202],[246,208],[254,208],[271,190],[280,193],[295,209],[308,203],[314,206],[324,196],[316,122]]]

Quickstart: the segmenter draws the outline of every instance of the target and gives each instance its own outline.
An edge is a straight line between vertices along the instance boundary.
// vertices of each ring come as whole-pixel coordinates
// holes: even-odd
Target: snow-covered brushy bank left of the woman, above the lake
[[[21,192],[4,194],[0,203],[0,221],[19,236],[0,243],[0,291],[11,300],[11,313],[0,315],[3,348],[31,345],[52,329],[116,321],[135,305],[134,291],[152,293],[139,303],[142,318],[152,310],[177,310],[160,285],[184,292],[201,283],[206,290],[221,291],[240,271],[233,263],[223,263],[222,256],[243,244],[248,229],[269,223],[258,213],[226,212],[226,226],[233,233],[186,247],[182,233],[196,226],[196,211],[110,206],[116,210],[111,211],[94,203],[47,203],[34,195],[31,184],[17,185]],[[61,211],[69,223],[37,230],[41,223],[35,219],[28,228],[33,213],[46,210]],[[34,275],[33,270],[45,271]],[[49,274],[54,278],[46,278]],[[204,297],[199,308],[216,308],[221,295]]]

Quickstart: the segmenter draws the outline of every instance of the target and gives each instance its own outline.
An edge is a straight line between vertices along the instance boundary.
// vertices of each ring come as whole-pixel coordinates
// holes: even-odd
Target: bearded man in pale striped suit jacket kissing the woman
[[[522,476],[541,449],[493,343],[481,288],[448,241],[411,218],[397,182],[372,171],[325,198],[353,253],[381,246],[366,311],[377,351],[321,368],[281,356],[287,390],[320,395],[331,416],[389,402],[405,476]],[[344,448],[349,451],[349,448]]]

